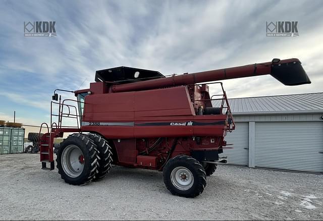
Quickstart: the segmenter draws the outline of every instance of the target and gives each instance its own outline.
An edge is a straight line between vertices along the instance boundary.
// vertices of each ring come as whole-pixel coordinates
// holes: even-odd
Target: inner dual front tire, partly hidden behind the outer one
[[[93,181],[99,181],[109,173],[111,169],[112,159],[112,147],[107,140],[97,134],[88,134],[88,137],[93,140],[97,149],[97,174]]]

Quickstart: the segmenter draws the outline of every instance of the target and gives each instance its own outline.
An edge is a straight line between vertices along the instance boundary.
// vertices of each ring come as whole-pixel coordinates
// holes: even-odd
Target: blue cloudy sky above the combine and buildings
[[[48,122],[53,90],[119,66],[170,75],[298,58],[312,84],[225,80],[228,97],[323,92],[322,15],[320,0],[1,1],[0,120]],[[25,37],[28,21],[55,21],[57,37]],[[297,21],[299,37],[267,37],[266,21]]]

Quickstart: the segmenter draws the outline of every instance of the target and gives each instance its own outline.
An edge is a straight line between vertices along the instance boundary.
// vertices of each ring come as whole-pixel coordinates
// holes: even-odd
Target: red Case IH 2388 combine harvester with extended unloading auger
[[[61,99],[55,90],[48,133],[40,139],[42,168],[54,169],[53,139],[66,138],[57,152],[62,179],[84,185],[102,179],[112,164],[163,171],[172,194],[195,197],[216,170],[235,129],[226,92],[210,96],[202,82],[270,74],[285,85],[309,84],[298,59],[165,77],[157,71],[119,67],[96,71],[89,89]],[[212,100],[221,100],[213,107]],[[73,104],[74,102],[74,104]],[[76,105],[77,104],[77,105]],[[53,122],[52,118],[58,118]],[[72,118],[77,126],[64,126]],[[66,120],[65,120],[66,123]]]

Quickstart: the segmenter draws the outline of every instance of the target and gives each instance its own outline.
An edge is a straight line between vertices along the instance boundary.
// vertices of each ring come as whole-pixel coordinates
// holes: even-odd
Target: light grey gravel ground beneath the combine
[[[0,219],[323,219],[323,176],[221,165],[193,199],[156,171],[114,167],[99,182],[64,183],[38,154],[0,155]]]

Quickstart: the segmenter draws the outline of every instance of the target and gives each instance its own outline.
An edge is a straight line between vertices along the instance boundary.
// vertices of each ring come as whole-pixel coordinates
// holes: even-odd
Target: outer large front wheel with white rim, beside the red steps
[[[85,135],[72,134],[57,152],[57,168],[68,184],[85,185],[93,180],[97,168],[95,143]]]

